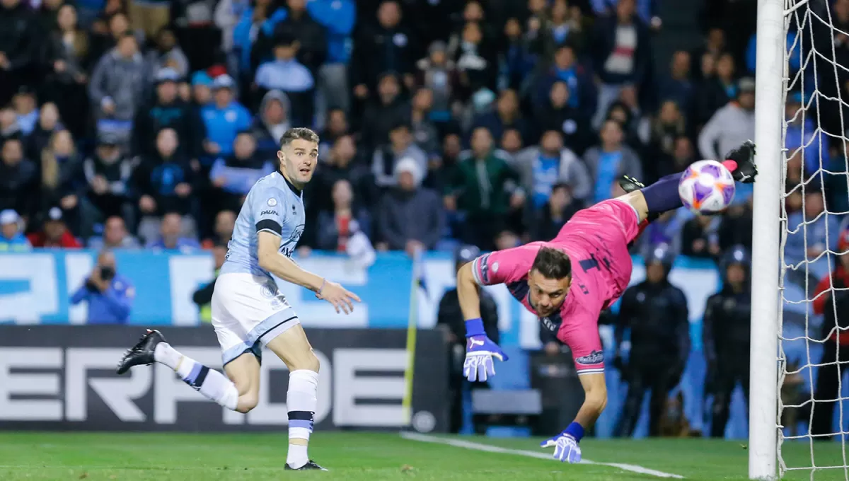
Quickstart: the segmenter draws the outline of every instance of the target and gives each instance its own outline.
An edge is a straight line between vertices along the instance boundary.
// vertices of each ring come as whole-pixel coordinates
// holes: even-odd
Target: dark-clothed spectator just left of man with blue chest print
[[[99,218],[121,215],[133,218],[129,182],[133,162],[121,154],[114,134],[100,136],[94,155],[82,162],[82,171],[88,184],[87,201]]]

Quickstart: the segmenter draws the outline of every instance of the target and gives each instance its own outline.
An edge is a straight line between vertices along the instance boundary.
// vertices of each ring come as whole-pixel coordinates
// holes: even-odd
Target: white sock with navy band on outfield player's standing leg
[[[318,372],[298,369],[289,373],[289,390],[286,392],[286,407],[289,409],[289,451],[286,464],[301,467],[309,461],[306,445],[293,445],[292,439],[309,441],[315,417]]]

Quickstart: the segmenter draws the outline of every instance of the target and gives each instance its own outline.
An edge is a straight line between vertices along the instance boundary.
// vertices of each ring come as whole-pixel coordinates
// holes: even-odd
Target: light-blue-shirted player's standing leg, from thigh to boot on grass
[[[286,453],[286,469],[324,470],[309,458],[306,449],[318,405],[318,357],[312,351],[301,324],[268,340],[266,346],[289,367],[289,390],[286,392],[289,451]]]

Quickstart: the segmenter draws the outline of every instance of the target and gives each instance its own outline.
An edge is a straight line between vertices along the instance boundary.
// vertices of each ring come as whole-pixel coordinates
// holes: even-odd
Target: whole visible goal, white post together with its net
[[[841,263],[846,266],[846,259],[837,255],[837,236],[832,234],[839,234],[849,223],[836,227],[841,216],[849,219],[849,4],[837,1],[839,11],[835,0],[757,0],[758,177],[752,226],[749,402],[752,479],[773,480],[792,471],[811,479],[825,476],[849,481],[849,431],[843,404],[849,397],[841,383],[841,368],[847,361],[840,355],[840,337],[849,333],[840,324],[823,326],[824,317],[813,310],[816,300],[821,306],[829,296],[838,299],[846,291],[833,284],[834,269]],[[834,149],[830,153],[829,146]],[[835,187],[841,183],[842,190]],[[794,241],[792,249],[788,239]],[[832,283],[820,283],[829,278]],[[814,292],[818,284],[824,289],[818,286]],[[831,310],[829,322],[840,317],[836,305],[835,300],[825,308]],[[828,358],[826,351],[831,353]],[[824,369],[829,374],[817,378],[824,383],[823,392],[817,394],[813,379]],[[800,379],[810,393],[791,392]],[[835,409],[841,426],[836,431],[829,427],[834,422],[832,406],[839,406]],[[800,422],[796,412],[807,414]],[[802,423],[807,426],[800,435]],[[829,439],[840,443],[829,446]],[[826,443],[815,448],[816,441]],[[841,454],[829,455],[836,453],[830,447]],[[805,457],[784,456],[790,450],[805,452]]]

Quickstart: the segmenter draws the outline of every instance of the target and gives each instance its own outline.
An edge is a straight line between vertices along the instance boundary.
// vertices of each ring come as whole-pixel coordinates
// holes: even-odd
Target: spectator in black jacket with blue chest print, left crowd
[[[154,238],[160,230],[160,217],[168,212],[187,216],[186,231],[194,222],[188,218],[193,210],[191,197],[197,181],[188,160],[179,154],[177,132],[171,128],[159,131],[156,136],[156,154],[138,165],[133,183],[138,191],[138,208],[143,215],[138,225],[138,235]]]

